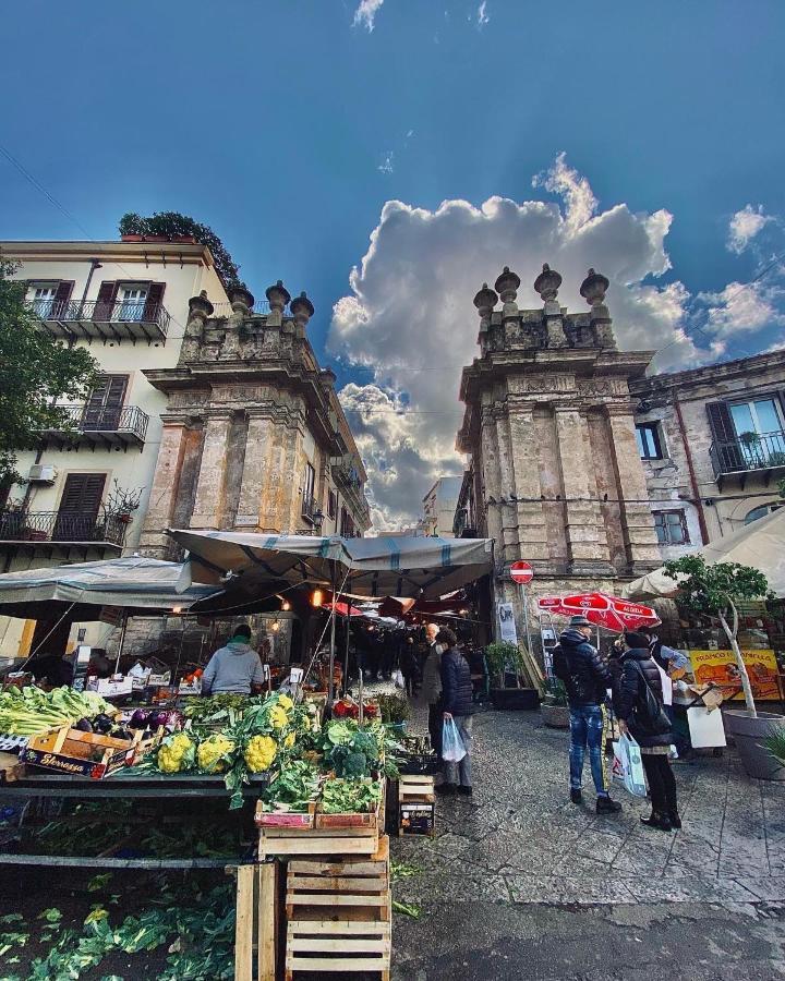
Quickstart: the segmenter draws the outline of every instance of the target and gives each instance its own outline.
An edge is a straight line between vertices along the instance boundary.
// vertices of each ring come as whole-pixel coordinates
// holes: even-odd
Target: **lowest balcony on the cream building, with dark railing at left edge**
[[[89,545],[122,549],[129,522],[85,511],[0,511],[0,544]]]

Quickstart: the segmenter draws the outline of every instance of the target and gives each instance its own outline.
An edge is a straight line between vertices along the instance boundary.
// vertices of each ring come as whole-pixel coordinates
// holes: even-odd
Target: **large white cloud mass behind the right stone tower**
[[[587,268],[611,280],[607,303],[623,348],[659,350],[661,368],[698,361],[684,332],[690,296],[683,283],[651,282],[671,267],[665,210],[600,210],[585,178],[559,155],[539,179],[560,202],[490,197],[445,201],[435,210],[388,201],[351,292],[335,305],[330,352],[372,373],[341,398],[370,475],[375,526],[410,523],[442,473],[460,473],[455,452],[462,365],[479,355],[472,299],[508,265],[521,277],[518,304],[542,305],[533,282],[547,262],[561,274],[559,301],[587,310]]]

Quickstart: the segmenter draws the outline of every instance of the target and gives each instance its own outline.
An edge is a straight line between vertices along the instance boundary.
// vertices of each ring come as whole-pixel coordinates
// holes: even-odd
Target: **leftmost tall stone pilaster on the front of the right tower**
[[[551,559],[545,514],[542,507],[540,484],[540,447],[534,428],[534,402],[517,402],[509,408],[509,416],[503,424],[499,438],[507,436],[515,487],[509,493],[520,498],[510,510],[516,516],[518,552],[516,556],[532,562],[534,568],[546,566]]]

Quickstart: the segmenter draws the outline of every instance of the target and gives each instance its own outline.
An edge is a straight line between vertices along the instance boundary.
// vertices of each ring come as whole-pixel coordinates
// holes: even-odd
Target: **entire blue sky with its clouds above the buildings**
[[[551,262],[570,306],[602,267],[661,368],[780,342],[780,264],[749,283],[785,249],[785,7],[752,7],[27,0],[0,143],[92,238],[180,210],[257,296],[305,289],[384,526],[460,468],[471,298],[503,264],[528,288]],[[0,157],[0,237],[85,235]]]

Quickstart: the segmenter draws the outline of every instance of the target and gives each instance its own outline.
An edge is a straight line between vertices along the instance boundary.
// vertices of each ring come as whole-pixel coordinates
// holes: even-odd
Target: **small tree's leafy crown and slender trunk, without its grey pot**
[[[773,600],[769,582],[760,569],[739,562],[709,565],[701,555],[685,555],[665,562],[667,577],[678,583],[678,603],[686,609],[720,621],[736,657],[745,701],[750,715],[757,716],[752,687],[738,645],[738,606],[740,603]]]

